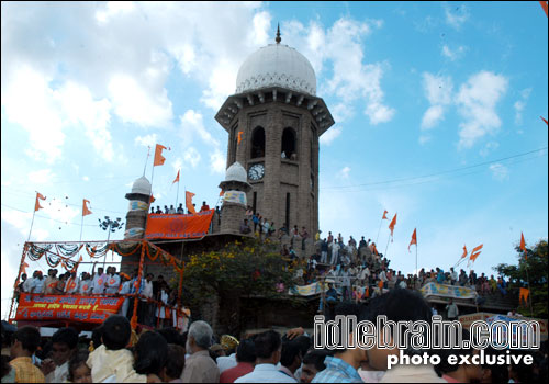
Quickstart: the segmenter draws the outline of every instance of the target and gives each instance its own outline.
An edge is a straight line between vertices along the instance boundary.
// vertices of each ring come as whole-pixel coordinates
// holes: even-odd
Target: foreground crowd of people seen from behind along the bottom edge
[[[432,321],[427,302],[411,290],[395,289],[372,298],[368,305],[352,302],[336,306],[335,315],[356,315],[376,321],[385,315],[393,321]],[[333,338],[349,337],[340,335]],[[426,331],[426,330],[425,330]],[[408,337],[411,337],[408,335]],[[463,338],[469,334],[464,331]],[[410,340],[408,340],[410,341]],[[8,355],[9,353],[9,355]],[[433,365],[400,364],[388,369],[388,357],[438,354]],[[133,331],[126,317],[114,315],[96,328],[91,340],[67,327],[51,339],[31,326],[13,334],[2,328],[2,383],[508,383],[547,382],[547,341],[531,354],[533,364],[511,360],[507,365],[475,362],[473,348],[435,349],[315,349],[302,328],[284,334],[273,329],[236,337],[214,335],[202,320],[189,330],[164,327]],[[505,351],[488,348],[490,357]],[[448,363],[456,357],[457,363]]]

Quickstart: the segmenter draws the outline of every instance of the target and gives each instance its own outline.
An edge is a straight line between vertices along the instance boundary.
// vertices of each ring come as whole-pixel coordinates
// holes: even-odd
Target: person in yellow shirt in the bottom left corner
[[[45,383],[42,371],[32,363],[40,346],[40,332],[34,327],[22,327],[13,334],[10,365],[15,370],[15,383]]]

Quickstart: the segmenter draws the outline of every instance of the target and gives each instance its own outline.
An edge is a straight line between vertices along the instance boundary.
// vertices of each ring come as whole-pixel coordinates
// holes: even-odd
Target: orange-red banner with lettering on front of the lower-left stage
[[[22,293],[15,320],[63,320],[102,324],[116,315],[124,297],[66,296]]]

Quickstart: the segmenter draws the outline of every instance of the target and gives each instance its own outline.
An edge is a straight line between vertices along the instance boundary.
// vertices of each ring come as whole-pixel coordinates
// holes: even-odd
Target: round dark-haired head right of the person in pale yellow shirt
[[[134,370],[139,374],[160,375],[168,359],[168,343],[166,339],[156,331],[147,331],[139,336],[134,347]]]

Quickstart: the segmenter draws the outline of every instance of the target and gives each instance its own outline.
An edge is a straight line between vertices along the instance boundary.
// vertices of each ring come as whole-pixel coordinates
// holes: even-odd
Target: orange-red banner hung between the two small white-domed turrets
[[[150,214],[145,230],[146,239],[192,239],[208,234],[214,210],[195,215]]]

